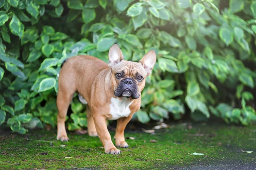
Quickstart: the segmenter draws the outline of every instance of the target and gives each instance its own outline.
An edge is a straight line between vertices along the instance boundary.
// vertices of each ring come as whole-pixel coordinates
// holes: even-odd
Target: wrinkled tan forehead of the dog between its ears
[[[124,73],[126,75],[132,76],[136,74],[141,74],[146,76],[146,71],[143,66],[138,62],[122,61],[114,65],[112,68],[114,73]]]

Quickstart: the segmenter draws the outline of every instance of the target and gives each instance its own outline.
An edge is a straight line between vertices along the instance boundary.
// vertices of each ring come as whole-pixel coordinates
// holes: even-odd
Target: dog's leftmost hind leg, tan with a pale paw
[[[70,88],[63,88],[59,84],[58,95],[57,95],[57,107],[58,107],[58,116],[57,116],[57,140],[68,141],[67,132],[65,128],[65,119],[67,116],[67,110],[70,105],[70,102],[73,98],[75,91],[70,90]]]

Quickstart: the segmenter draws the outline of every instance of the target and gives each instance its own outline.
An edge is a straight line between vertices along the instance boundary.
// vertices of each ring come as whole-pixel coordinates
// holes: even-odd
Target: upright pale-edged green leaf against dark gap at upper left
[[[24,25],[20,22],[20,20],[13,15],[11,22],[9,23],[9,28],[12,34],[21,37],[24,32]]]

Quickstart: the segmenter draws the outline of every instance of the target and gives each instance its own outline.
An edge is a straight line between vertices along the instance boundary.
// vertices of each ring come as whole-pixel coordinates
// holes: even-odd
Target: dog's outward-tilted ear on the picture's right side
[[[140,60],[140,63],[145,68],[147,76],[151,74],[151,71],[156,63],[157,56],[154,50],[148,51],[147,54]]]

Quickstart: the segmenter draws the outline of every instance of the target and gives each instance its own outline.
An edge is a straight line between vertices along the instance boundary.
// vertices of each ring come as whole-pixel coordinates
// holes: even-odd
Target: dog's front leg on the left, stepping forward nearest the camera
[[[106,123],[106,118],[104,116],[93,116],[96,131],[98,133],[99,139],[101,140],[105,153],[119,154],[121,151],[116,149],[115,145],[111,141],[111,136],[108,132],[108,127]]]

